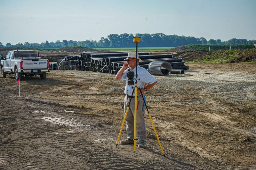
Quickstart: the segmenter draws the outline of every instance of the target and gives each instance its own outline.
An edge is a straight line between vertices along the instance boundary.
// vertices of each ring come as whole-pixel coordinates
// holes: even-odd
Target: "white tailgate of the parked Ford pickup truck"
[[[47,69],[47,60],[23,60],[23,69]]]

